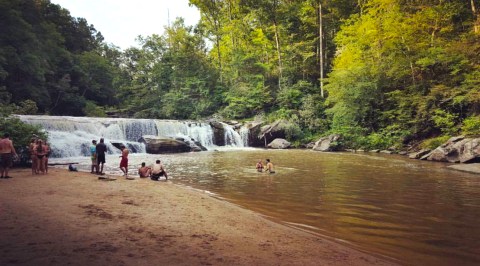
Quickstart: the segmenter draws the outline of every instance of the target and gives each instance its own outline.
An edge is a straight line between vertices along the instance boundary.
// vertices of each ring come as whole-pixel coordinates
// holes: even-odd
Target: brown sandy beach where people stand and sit
[[[0,179],[0,265],[394,265],[208,193],[50,169]]]

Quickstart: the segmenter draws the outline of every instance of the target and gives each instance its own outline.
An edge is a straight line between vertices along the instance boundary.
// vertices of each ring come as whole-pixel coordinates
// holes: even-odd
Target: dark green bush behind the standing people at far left
[[[47,140],[48,136],[40,127],[23,123],[15,117],[0,117],[0,135],[8,133],[13,146],[20,157],[20,163],[25,165],[30,158],[28,146],[32,137]]]

